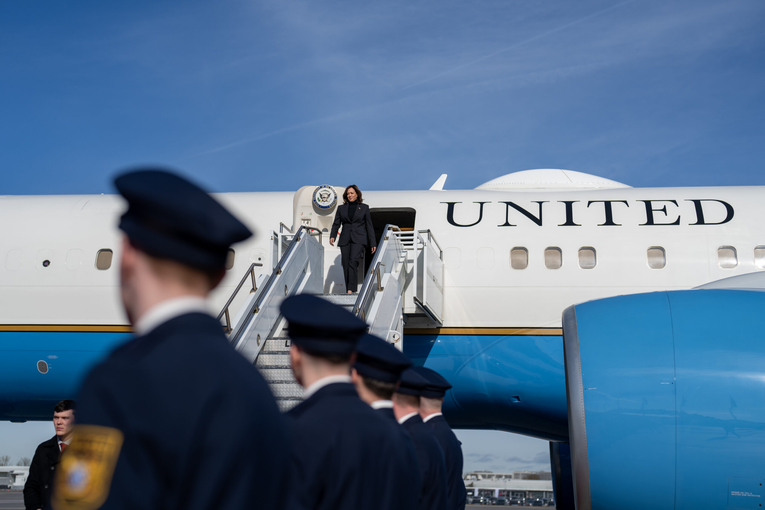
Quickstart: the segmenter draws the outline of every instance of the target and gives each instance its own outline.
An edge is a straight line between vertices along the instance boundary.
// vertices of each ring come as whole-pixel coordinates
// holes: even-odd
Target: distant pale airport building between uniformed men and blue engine
[[[495,498],[552,498],[552,473],[549,471],[471,471],[463,476],[463,479],[468,497],[488,495]]]

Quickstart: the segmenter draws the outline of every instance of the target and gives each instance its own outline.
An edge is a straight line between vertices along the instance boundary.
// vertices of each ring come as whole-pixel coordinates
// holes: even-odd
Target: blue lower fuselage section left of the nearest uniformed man
[[[0,420],[50,420],[83,378],[130,333],[0,332]],[[47,364],[47,373],[37,362]]]

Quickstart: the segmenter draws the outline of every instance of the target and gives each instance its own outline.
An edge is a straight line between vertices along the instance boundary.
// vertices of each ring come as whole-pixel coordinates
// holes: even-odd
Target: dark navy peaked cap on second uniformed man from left
[[[316,356],[350,355],[366,333],[366,323],[359,317],[311,294],[288,297],[281,310],[292,342]]]

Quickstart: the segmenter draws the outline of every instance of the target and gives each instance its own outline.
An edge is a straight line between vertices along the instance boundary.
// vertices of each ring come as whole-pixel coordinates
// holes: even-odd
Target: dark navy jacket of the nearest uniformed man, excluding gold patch
[[[175,317],[112,352],[86,378],[77,422],[125,437],[102,508],[283,506],[285,420],[213,317]]]

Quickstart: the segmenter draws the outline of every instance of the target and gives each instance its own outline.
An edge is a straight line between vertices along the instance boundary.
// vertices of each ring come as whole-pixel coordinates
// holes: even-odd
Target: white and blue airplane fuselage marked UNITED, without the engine
[[[430,190],[363,190],[378,239],[396,226],[438,253],[428,273],[438,300],[405,303],[399,346],[454,385],[444,402],[452,427],[549,440],[558,485],[572,469],[564,310],[765,271],[765,187],[633,188],[558,169],[474,190],[444,190],[445,179]],[[231,310],[243,307],[243,274],[255,290],[300,228],[323,236],[324,294],[344,294],[340,252],[326,239],[344,189],[214,194],[255,236],[232,247],[210,310],[229,296]],[[113,195],[0,197],[0,419],[48,419],[129,339],[116,228],[124,210]],[[563,501],[556,494],[558,508]]]

